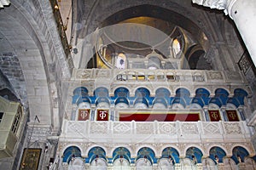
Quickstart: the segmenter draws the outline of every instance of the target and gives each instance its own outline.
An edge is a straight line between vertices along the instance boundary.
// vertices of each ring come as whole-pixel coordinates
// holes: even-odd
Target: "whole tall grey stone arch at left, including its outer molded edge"
[[[45,6],[47,8],[44,8]],[[56,60],[66,61],[62,47],[51,46],[49,48],[49,44],[61,43],[59,38],[53,38],[58,36],[58,32],[55,29],[49,30],[49,26],[55,23],[53,14],[45,11],[49,10],[49,6],[49,2],[35,7],[34,3],[31,2],[20,4],[16,0],[12,1],[12,5],[9,7],[11,10],[5,10],[6,16],[9,17],[9,20],[6,21],[12,22],[12,24],[6,24],[5,26],[14,26],[14,23],[16,23],[16,26],[5,27],[5,29],[9,31],[19,29],[19,31],[13,31],[12,36],[15,38],[9,40],[9,42],[15,48],[15,53],[18,54],[22,72],[26,77],[26,94],[28,96],[30,120],[38,116],[41,123],[53,126],[53,130],[59,130],[62,116],[55,117],[58,113],[54,113],[51,107],[55,105],[55,112],[58,112],[59,104],[56,98],[59,97],[61,89],[56,88],[55,82],[50,83],[49,79],[52,76],[51,74],[55,74],[55,77],[59,77],[60,80],[61,77],[70,77],[70,71],[68,64],[61,63],[59,65],[59,62],[56,62]],[[37,17],[41,14],[44,17]],[[44,20],[45,18],[49,20]],[[42,27],[45,29],[41,29]],[[21,47],[17,40],[29,42],[29,46],[23,43],[24,45],[26,44],[26,47]],[[56,68],[60,70],[55,71]],[[40,86],[37,84],[40,84]],[[37,100],[33,100],[35,98]],[[38,105],[36,103],[38,100],[44,100],[45,105]],[[55,103],[53,103],[53,100],[55,100]],[[42,114],[39,114],[38,111],[41,111]]]

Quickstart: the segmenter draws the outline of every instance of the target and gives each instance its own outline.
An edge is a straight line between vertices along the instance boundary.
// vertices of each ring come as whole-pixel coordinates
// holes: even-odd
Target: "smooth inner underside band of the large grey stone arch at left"
[[[18,43],[15,43],[17,41],[16,38],[14,38],[13,40],[9,40],[13,48],[15,48],[15,53],[18,54],[17,57],[20,61],[22,73],[24,74],[24,77],[26,77],[26,88],[31,88],[31,90],[26,89],[26,94],[29,96],[27,98],[27,102],[29,105],[28,109],[31,117],[30,120],[34,120],[34,117],[38,115],[38,110],[41,110],[44,112],[44,118],[42,118],[42,115],[38,115],[40,122],[45,122],[47,124],[53,123],[52,110],[50,108],[52,105],[52,101],[50,99],[51,87],[48,84],[49,72],[47,71],[47,68],[45,68],[43,65],[46,62],[45,58],[48,57],[45,55],[49,53],[49,47],[47,45],[41,44],[40,41],[45,41],[45,37],[42,35],[41,31],[39,31],[36,21],[32,19],[32,16],[28,14],[25,8],[22,8],[22,6],[17,2],[12,3],[12,5],[9,8],[13,8],[13,11],[15,12],[6,14],[8,20],[10,22],[16,23],[16,27],[19,27],[19,31],[14,31],[16,32],[16,35],[14,33],[13,37],[20,37],[22,35],[23,37],[26,37],[26,41],[31,42],[31,47],[27,48],[18,47]],[[8,10],[6,10],[6,12],[8,13]],[[24,23],[21,25],[20,22]],[[7,24],[6,26],[12,26],[12,24]],[[14,28],[5,29],[13,30]],[[27,32],[30,32],[30,34],[28,34]],[[35,66],[36,63],[37,67]],[[37,69],[39,72],[37,71]],[[38,80],[34,79],[33,75],[31,74],[31,71],[33,71],[34,73],[38,72],[38,75],[35,74],[35,76],[41,77],[41,86],[38,86],[38,88],[36,88],[36,86],[33,85],[33,83],[30,83],[31,81],[34,81],[34,83],[39,82]],[[46,105],[42,107],[42,105],[36,104],[33,98],[44,99]]]

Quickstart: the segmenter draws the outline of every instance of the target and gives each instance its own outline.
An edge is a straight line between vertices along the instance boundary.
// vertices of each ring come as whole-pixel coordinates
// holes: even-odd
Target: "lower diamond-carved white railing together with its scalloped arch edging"
[[[148,126],[140,126],[142,124]],[[231,156],[232,149],[241,145],[253,155],[253,145],[249,141],[246,122],[65,121],[57,152],[61,155],[68,146],[76,145],[82,156],[86,156],[90,148],[100,145],[108,153],[118,146],[125,146],[136,155],[137,150],[148,146],[160,156],[161,150],[172,146],[183,156],[189,147],[195,146],[207,156],[213,146],[219,146]]]

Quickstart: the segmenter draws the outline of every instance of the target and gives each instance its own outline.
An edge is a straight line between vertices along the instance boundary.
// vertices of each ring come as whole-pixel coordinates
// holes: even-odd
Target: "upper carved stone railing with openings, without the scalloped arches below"
[[[239,72],[194,71],[194,70],[118,70],[118,69],[74,69],[73,80],[101,80],[111,82],[236,82],[244,83]]]

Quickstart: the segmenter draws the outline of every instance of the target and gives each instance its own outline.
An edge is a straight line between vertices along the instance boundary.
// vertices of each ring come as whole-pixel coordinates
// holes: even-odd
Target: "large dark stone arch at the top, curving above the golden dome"
[[[156,3],[152,0],[147,1],[147,3],[143,1],[131,3],[130,0],[126,0],[125,2],[126,3],[119,3],[114,1],[102,4],[102,2],[96,1],[93,4],[88,5],[89,7],[87,8],[90,8],[89,14],[83,12],[79,13],[81,10],[74,10],[78,12],[77,15],[80,16],[78,18],[84,18],[84,20],[73,20],[73,23],[76,23],[76,25],[82,25],[82,23],[85,23],[85,26],[79,26],[82,27],[77,34],[79,39],[84,39],[84,37],[89,36],[93,31],[96,31],[103,26],[113,26],[114,24],[119,23],[121,20],[126,20],[137,16],[150,16],[161,18],[162,20],[172,21],[172,23],[177,26],[183,26],[186,31],[189,31],[191,35],[194,35],[195,39],[199,40],[198,42],[205,43],[203,45],[204,49],[209,48],[210,43],[208,41],[212,40],[212,37],[207,37],[204,32],[212,30],[206,28],[207,24],[201,24],[205,21],[204,17],[202,17],[203,15],[200,12],[195,14],[195,11],[191,11],[189,9],[189,6],[191,5],[190,3],[178,4],[172,1]],[[109,10],[103,10],[102,6],[105,6]],[[148,8],[148,10],[145,10],[145,8]],[[97,13],[96,11],[101,11],[101,13]],[[159,12],[155,13],[154,11],[161,11],[161,14],[159,14]],[[170,14],[172,17],[167,17]],[[200,16],[201,21],[195,20],[197,17],[194,15],[197,15],[198,17]],[[89,22],[91,23],[90,25],[88,24]],[[77,44],[75,45],[85,46],[88,45],[88,43],[77,41]],[[82,56],[79,56],[79,58],[81,57]]]

